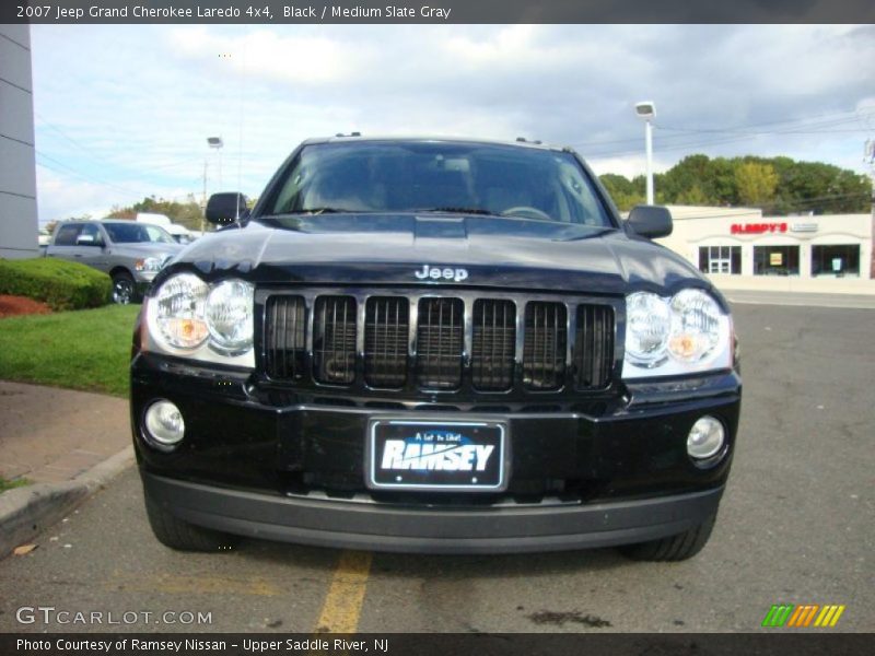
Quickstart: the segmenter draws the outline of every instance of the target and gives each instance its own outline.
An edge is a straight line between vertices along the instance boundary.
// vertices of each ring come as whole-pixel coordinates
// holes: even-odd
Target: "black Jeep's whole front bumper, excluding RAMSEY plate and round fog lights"
[[[141,427],[159,398],[180,410],[172,453]],[[400,411],[271,400],[245,372],[138,353],[131,421],[151,502],[191,524],[318,546],[441,553],[547,551],[641,542],[682,532],[718,509],[740,406],[734,372],[641,383],[593,414],[408,409],[411,419],[504,422],[511,448],[501,494],[369,492],[365,434]],[[723,421],[728,447],[701,467],[686,453],[702,414]]]

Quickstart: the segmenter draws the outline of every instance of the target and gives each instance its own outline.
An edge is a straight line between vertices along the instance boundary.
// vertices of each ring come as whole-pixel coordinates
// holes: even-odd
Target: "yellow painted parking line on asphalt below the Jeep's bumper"
[[[316,622],[316,633],[355,633],[371,572],[371,553],[364,551],[340,554]]]

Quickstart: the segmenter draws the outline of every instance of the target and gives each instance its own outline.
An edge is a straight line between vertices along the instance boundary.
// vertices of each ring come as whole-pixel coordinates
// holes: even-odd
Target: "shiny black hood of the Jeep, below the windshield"
[[[686,260],[621,230],[493,216],[327,214],[231,226],[180,254],[195,268],[258,284],[433,284],[626,294],[710,288]],[[424,267],[442,277],[417,277]],[[464,269],[465,277],[456,276]],[[444,279],[443,272],[453,277]],[[160,282],[160,281],[159,281]]]

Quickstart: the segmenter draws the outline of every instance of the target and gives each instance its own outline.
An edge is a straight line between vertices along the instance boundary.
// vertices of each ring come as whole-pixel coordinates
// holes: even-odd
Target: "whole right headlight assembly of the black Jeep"
[[[702,290],[670,298],[638,292],[626,298],[623,378],[673,376],[732,367],[732,321]]]

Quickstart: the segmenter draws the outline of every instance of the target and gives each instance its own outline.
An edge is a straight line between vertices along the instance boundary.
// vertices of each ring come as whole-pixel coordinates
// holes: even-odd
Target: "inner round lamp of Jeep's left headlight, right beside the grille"
[[[253,348],[253,285],[225,280],[207,297],[207,327],[217,350],[237,354]]]

